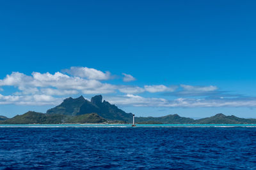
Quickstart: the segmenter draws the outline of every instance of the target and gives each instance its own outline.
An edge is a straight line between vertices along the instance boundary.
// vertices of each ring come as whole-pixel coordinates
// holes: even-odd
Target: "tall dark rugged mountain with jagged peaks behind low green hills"
[[[88,113],[97,113],[100,117],[109,120],[121,120],[124,122],[132,121],[132,113],[125,113],[120,110],[115,104],[110,104],[108,101],[102,102],[102,96],[94,96],[91,101],[80,96],[76,99],[69,97],[63,103],[55,108],[47,110],[47,114],[62,114],[62,115],[84,115]]]

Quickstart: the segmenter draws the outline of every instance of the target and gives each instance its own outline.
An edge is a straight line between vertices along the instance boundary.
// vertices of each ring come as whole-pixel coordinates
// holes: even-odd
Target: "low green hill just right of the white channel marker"
[[[149,124],[150,122],[157,122],[161,124],[193,124],[195,120],[193,118],[180,117],[179,115],[167,115],[164,117],[136,117],[136,122],[144,122]]]

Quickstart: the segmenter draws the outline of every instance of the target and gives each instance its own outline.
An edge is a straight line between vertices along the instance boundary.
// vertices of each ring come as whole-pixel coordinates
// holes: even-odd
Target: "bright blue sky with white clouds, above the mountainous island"
[[[139,116],[256,118],[255,7],[1,1],[0,115],[102,94]]]

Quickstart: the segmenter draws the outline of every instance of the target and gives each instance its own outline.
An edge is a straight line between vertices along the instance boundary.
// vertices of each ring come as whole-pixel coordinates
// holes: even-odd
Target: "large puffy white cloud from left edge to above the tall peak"
[[[0,80],[0,86],[14,86],[18,87],[23,94],[35,94],[38,92],[36,88],[56,88],[63,91],[65,94],[74,90],[83,91],[85,94],[93,94],[93,92],[106,94],[113,92],[116,89],[115,85],[108,83],[101,83],[98,80],[86,80],[84,78],[68,76],[60,72],[51,73],[37,73],[33,72],[32,76],[27,76],[23,73],[13,72],[7,75],[6,78]],[[49,92],[49,94],[60,94],[56,90],[43,90],[41,92]]]

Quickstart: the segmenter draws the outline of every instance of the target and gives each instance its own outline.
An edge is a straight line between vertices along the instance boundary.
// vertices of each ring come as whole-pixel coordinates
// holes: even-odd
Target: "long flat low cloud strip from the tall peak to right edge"
[[[256,107],[256,97],[233,99],[191,99],[167,100],[156,97],[141,97],[132,94],[106,97],[111,103],[124,106],[167,107],[167,108],[215,108],[215,107]]]

